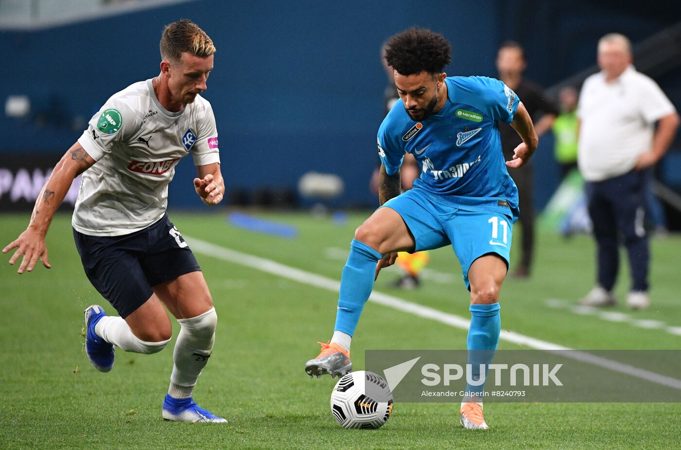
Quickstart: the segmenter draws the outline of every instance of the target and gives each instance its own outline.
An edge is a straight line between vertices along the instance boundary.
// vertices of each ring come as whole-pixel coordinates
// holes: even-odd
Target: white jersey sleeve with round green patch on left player
[[[133,111],[122,101],[111,98],[92,116],[88,128],[78,138],[78,144],[92,159],[99,161],[111,152],[116,142],[125,142],[127,136],[134,133],[134,129]]]

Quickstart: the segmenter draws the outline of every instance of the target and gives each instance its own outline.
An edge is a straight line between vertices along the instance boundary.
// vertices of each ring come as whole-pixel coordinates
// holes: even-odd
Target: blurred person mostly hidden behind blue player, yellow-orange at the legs
[[[383,116],[387,116],[387,113],[392,110],[395,106],[396,101],[400,99],[397,94],[397,89],[395,88],[395,76],[393,74],[390,66],[387,65],[385,61],[385,43],[381,46],[381,64],[383,69],[385,69],[385,74],[387,75],[387,86],[385,86],[385,91],[383,91]],[[378,160],[378,165],[375,168],[373,174],[371,175],[370,189],[376,195],[379,194],[379,176],[381,172],[381,159]],[[402,182],[402,192],[409,191],[411,189],[413,182],[416,178],[421,175],[421,170],[419,163],[417,163],[411,153],[405,153],[405,159],[402,162],[402,167],[400,167],[400,180]],[[400,289],[414,289],[421,285],[420,274],[426,265],[430,261],[430,255],[428,251],[420,252],[399,252],[396,263],[402,269],[402,276],[398,278],[394,283],[394,287]]]

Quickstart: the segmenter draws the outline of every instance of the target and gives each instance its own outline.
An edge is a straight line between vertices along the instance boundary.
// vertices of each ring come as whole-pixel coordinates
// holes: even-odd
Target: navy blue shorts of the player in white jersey
[[[201,270],[168,214],[124,236],[74,229],[74,239],[90,283],[124,319],[149,300],[153,286]]]

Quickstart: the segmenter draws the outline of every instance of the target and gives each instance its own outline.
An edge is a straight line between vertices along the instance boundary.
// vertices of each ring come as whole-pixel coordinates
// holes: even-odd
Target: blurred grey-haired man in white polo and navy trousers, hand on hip
[[[597,285],[582,300],[588,306],[617,303],[612,289],[620,266],[620,234],[632,278],[627,306],[650,305],[644,227],[648,171],[674,140],[679,116],[656,82],[636,71],[632,61],[627,37],[601,37],[601,71],[586,78],[577,107],[577,161],[597,244]]]

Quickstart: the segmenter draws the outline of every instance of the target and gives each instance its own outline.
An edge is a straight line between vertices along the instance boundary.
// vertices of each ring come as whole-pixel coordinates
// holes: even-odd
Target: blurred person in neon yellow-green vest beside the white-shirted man
[[[560,180],[577,168],[577,89],[560,89],[560,114],[553,124],[554,155],[560,165]]]

